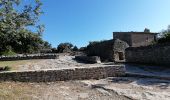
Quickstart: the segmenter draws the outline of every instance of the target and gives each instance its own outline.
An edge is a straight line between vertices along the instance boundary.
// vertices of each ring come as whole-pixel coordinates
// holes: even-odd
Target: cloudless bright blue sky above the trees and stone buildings
[[[153,32],[170,24],[170,0],[42,0],[43,38],[53,47],[112,39],[114,31]]]

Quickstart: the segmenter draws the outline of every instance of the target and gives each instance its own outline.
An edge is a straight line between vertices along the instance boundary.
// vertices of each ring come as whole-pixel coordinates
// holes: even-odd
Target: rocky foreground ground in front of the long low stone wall
[[[170,81],[119,77],[51,83],[1,82],[0,100],[170,100]]]

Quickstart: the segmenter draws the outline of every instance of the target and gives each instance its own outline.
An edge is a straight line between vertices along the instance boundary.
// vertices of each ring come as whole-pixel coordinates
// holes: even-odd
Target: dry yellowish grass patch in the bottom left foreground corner
[[[29,83],[0,83],[0,100],[31,100],[37,94],[35,87]],[[34,98],[36,99],[36,97]]]

